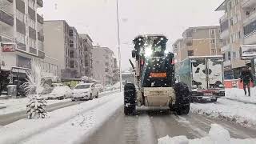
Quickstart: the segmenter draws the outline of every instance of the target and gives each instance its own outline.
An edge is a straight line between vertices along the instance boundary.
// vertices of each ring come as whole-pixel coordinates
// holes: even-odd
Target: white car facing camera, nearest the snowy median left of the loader
[[[72,92],[72,101],[75,100],[92,100],[98,98],[99,90],[95,87],[94,83],[78,84],[74,87]]]

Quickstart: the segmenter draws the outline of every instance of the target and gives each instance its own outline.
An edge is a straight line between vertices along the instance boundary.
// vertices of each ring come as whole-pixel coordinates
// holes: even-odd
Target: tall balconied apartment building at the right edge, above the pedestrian
[[[215,11],[224,11],[219,19],[223,41],[226,79],[238,78],[246,61],[240,57],[240,46],[256,43],[256,1],[225,0]]]

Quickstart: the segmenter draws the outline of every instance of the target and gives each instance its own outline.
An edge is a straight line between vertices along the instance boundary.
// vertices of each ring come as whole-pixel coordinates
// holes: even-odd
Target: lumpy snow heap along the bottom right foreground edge
[[[170,138],[168,135],[158,139],[158,144],[255,144],[256,139],[230,138],[228,130],[218,124],[212,124],[208,136],[204,138],[188,139],[186,136]]]

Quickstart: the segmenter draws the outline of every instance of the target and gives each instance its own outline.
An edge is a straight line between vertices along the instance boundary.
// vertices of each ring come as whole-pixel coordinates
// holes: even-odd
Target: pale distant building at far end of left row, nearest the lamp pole
[[[93,77],[103,86],[114,84],[114,52],[108,47],[94,46]]]

